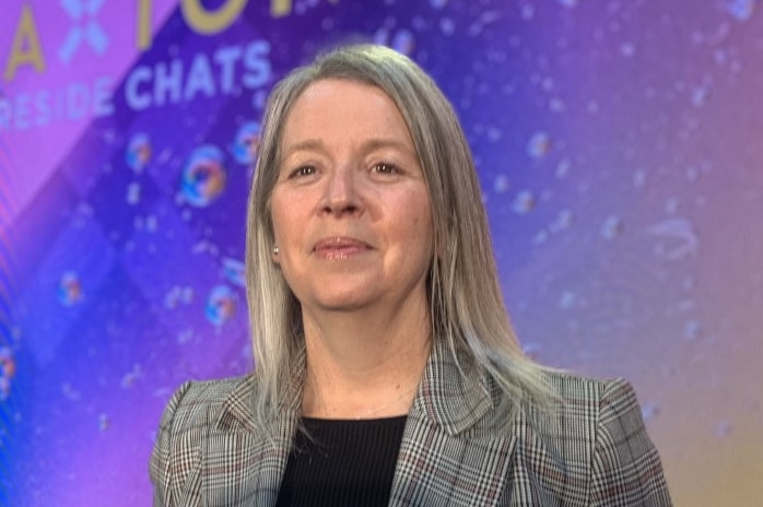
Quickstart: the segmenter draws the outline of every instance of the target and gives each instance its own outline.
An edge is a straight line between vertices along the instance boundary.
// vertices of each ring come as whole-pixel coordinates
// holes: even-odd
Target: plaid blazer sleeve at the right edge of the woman
[[[592,506],[671,506],[662,465],[625,380],[604,387],[591,463]]]

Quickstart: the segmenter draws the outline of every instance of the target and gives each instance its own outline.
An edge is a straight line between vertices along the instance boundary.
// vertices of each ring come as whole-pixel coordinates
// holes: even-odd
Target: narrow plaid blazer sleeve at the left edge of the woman
[[[177,505],[176,499],[173,498],[173,483],[176,482],[178,477],[174,477],[173,473],[171,473],[171,443],[175,413],[189,387],[190,382],[186,382],[175,391],[167,406],[164,409],[164,413],[160,421],[156,441],[151,451],[151,459],[149,461],[149,473],[154,490],[154,507],[171,507]]]

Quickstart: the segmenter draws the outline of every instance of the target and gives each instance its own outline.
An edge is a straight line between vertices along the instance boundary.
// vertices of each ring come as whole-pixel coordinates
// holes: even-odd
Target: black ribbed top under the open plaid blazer
[[[303,417],[278,507],[386,506],[406,416],[364,421]]]

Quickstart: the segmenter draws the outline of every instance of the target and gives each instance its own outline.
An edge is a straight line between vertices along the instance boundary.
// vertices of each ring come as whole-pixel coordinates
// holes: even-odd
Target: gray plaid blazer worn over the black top
[[[435,345],[402,437],[391,506],[670,506],[660,460],[624,380],[548,373],[563,406],[510,414],[495,382]],[[154,506],[272,506],[295,414],[278,441],[253,424],[251,376],[189,382],[160,423]]]

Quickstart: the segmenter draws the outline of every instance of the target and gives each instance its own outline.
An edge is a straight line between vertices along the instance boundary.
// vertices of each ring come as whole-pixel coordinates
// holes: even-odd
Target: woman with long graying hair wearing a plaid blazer
[[[155,505],[670,505],[632,388],[521,354],[467,142],[419,67],[320,57],[273,91],[259,150],[257,367],[175,393]]]

